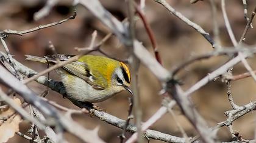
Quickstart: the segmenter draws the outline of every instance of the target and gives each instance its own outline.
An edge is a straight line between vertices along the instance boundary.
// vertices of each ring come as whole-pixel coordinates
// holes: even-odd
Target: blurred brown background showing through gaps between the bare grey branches
[[[70,5],[73,1],[60,1],[49,13],[46,18],[34,21],[33,16],[43,7],[46,1],[32,1],[32,0],[13,0],[13,1],[0,1],[0,30],[26,30],[29,28],[37,27],[38,25],[48,24],[50,22],[59,21],[73,14],[73,7]],[[127,16],[126,2],[118,0],[101,1],[107,10],[109,10],[116,18],[122,20]],[[213,35],[213,20],[210,2],[199,1],[196,4],[190,4],[185,0],[172,0],[168,1],[170,5],[176,8],[184,16],[196,24],[201,25],[206,32]],[[217,4],[217,18],[220,29],[221,44],[223,46],[232,46],[229,35],[227,34],[226,27],[221,12],[220,1]],[[248,14],[256,5],[256,1],[248,0]],[[242,1],[226,1],[227,15],[229,16],[230,24],[232,25],[233,32],[237,40],[240,39],[246,25],[243,13]],[[163,65],[168,70],[174,68],[176,65],[185,61],[193,55],[200,55],[203,53],[211,52],[213,48],[211,45],[197,33],[193,28],[183,23],[175,16],[157,4],[154,1],[146,1],[146,18],[154,31],[155,38],[157,39],[160,55],[163,59]],[[253,24],[255,23],[252,22]],[[255,24],[254,24],[255,25]],[[24,55],[44,56],[51,54],[48,49],[48,41],[52,41],[58,53],[76,54],[74,47],[85,47],[90,44],[91,33],[93,30],[98,31],[98,41],[100,41],[108,33],[107,27],[101,24],[98,19],[94,18],[84,7],[77,7],[77,17],[74,20],[56,25],[51,28],[39,30],[37,32],[29,33],[24,36],[11,35],[7,38],[12,55],[21,63],[33,68],[36,71],[42,71],[46,65],[38,64],[36,62],[24,61]],[[255,29],[250,29],[246,35],[246,44],[255,44],[256,32]],[[145,47],[152,53],[152,47],[149,42],[148,35],[140,20],[137,22],[137,38],[143,42]],[[127,58],[127,53],[122,44],[112,37],[102,47],[106,53],[115,56],[119,59]],[[0,48],[2,51],[3,48]],[[99,53],[94,53],[99,54]],[[152,53],[153,55],[153,53]],[[191,87],[199,79],[203,78],[207,73],[218,68],[224,64],[229,57],[219,56],[210,58],[204,61],[198,61],[195,64],[185,68],[180,74],[179,78],[184,82],[183,90]],[[255,58],[248,59],[252,68],[256,69],[254,63]],[[245,68],[242,64],[235,66],[233,73],[243,73]],[[143,121],[151,117],[155,111],[161,106],[162,96],[159,96],[161,90],[160,84],[152,73],[143,65],[140,67],[139,73],[139,86],[141,96],[141,107],[143,108]],[[58,80],[58,76],[54,72],[51,73],[51,78]],[[250,101],[255,101],[255,82],[252,78],[242,79],[240,81],[232,82],[232,95],[238,105],[247,104]],[[37,93],[41,93],[46,87],[32,82],[29,84]],[[127,118],[129,93],[122,92],[114,98],[101,102],[98,105],[107,110],[107,113],[117,116],[121,119]],[[230,105],[226,95],[226,84],[219,79],[215,82],[210,82],[205,87],[196,91],[192,95],[194,105],[207,120],[209,127],[216,125],[218,122],[226,120],[224,112],[230,110]],[[77,108],[67,99],[63,99],[61,95],[50,91],[47,98],[56,101],[61,105],[69,108]],[[179,109],[176,110],[177,119],[179,119],[183,128],[185,128],[189,136],[196,135],[196,131],[190,123],[181,115]],[[121,134],[119,128],[101,122],[98,118],[91,118],[88,115],[74,115],[74,120],[79,122],[86,128],[100,127],[99,136],[106,142],[119,142],[117,138]],[[133,121],[132,121],[133,122]],[[20,124],[21,132],[27,134],[30,128],[27,122]],[[248,113],[242,118],[234,122],[233,127],[236,131],[240,131],[245,139],[254,138],[255,128],[255,115]],[[166,114],[160,121],[156,122],[153,127],[154,130],[162,131],[174,136],[182,136],[177,128],[171,115]],[[80,142],[72,135],[65,135],[70,142]],[[221,141],[230,141],[230,133],[226,127],[222,127],[218,132],[218,138]],[[15,135],[9,142],[24,142],[27,140]],[[145,140],[146,142],[146,140]],[[151,142],[161,142],[154,141]]]

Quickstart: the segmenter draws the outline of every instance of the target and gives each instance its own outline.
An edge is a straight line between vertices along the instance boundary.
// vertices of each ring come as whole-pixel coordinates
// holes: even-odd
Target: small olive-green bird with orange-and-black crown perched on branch
[[[50,64],[67,61],[73,55],[49,55],[44,58],[25,55],[27,60]],[[59,60],[58,60],[59,59]],[[101,102],[123,90],[130,90],[130,71],[126,64],[104,56],[85,55],[55,70],[69,98],[82,102]]]

